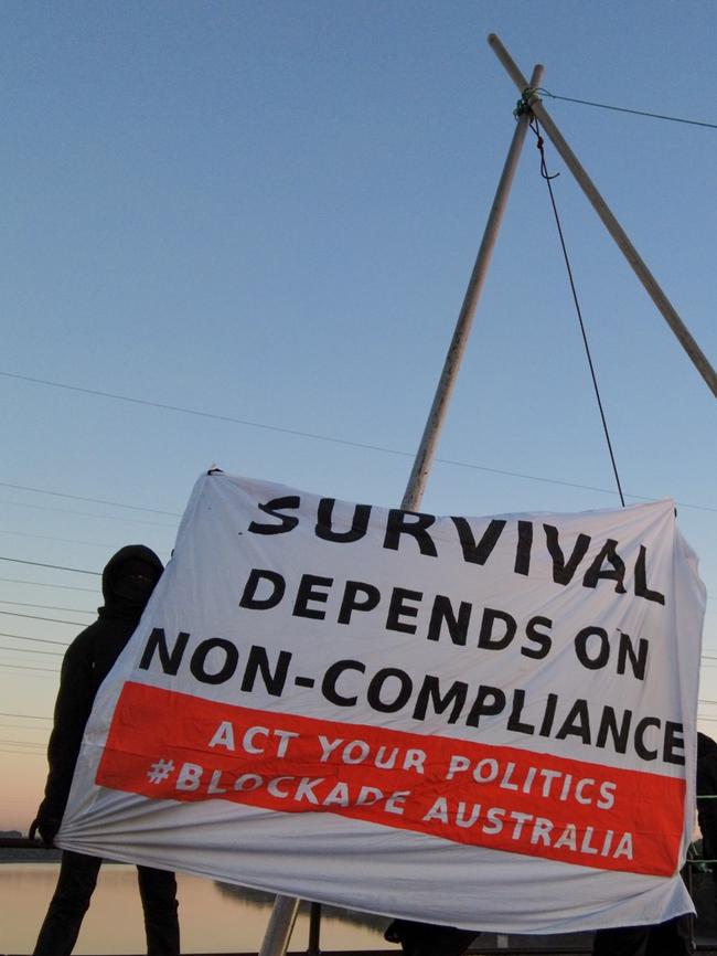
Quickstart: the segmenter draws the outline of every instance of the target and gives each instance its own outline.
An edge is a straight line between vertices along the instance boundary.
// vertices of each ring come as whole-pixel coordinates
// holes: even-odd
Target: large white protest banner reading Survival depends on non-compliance
[[[438,518],[210,472],[57,843],[495,932],[687,912],[704,606],[668,500]]]

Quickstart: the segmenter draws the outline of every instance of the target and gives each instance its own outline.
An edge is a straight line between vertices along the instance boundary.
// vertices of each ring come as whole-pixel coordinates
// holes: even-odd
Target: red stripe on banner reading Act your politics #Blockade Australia
[[[331,812],[604,870],[672,875],[685,782],[128,682],[96,783],[154,799]]]

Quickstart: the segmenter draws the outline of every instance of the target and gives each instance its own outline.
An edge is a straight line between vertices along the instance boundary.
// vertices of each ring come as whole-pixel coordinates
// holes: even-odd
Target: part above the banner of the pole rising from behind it
[[[533,76],[531,77],[531,86],[533,88],[541,85],[544,67],[538,63],[533,71]],[[483,241],[478,251],[478,257],[468,284],[468,289],[465,290],[463,305],[458,316],[458,321],[456,322],[453,338],[451,339],[448,354],[446,355],[443,371],[438,381],[434,404],[428,414],[428,421],[426,422],[424,435],[420,439],[420,445],[418,446],[414,467],[410,477],[408,478],[408,485],[406,486],[406,493],[400,503],[400,507],[406,511],[413,511],[418,508],[420,499],[424,496],[428,472],[430,471],[436,455],[440,429],[446,418],[448,403],[450,402],[453,385],[458,378],[458,370],[460,369],[463,352],[465,351],[468,337],[470,336],[471,326],[473,323],[473,316],[475,315],[478,300],[483,289],[485,276],[488,274],[488,266],[497,238],[497,232],[501,222],[503,221],[503,213],[505,212],[505,206],[507,204],[507,194],[511,190],[515,170],[517,168],[517,161],[521,156],[521,149],[525,141],[528,121],[529,117],[521,116],[515,127],[515,132],[513,134],[513,140],[511,141],[511,147],[505,159],[505,166],[503,167],[503,172],[495,191],[493,205],[491,206],[491,212],[485,225],[485,232],[483,233]]]

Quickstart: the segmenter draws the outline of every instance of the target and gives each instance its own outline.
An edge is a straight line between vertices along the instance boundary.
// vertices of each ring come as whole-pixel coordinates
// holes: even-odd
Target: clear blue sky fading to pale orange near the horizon
[[[15,562],[99,571],[132,541],[167,560],[213,463],[400,501],[513,134],[491,31],[554,94],[717,123],[711,2],[7,0],[0,19]],[[546,105],[714,363],[717,130]],[[714,595],[714,397],[546,155],[622,486],[679,502]],[[619,503],[532,136],[438,456],[428,511]],[[36,617],[84,623],[99,603],[89,575],[0,562],[0,577],[6,635],[67,642],[76,624]],[[2,710],[30,715],[0,718],[0,825],[23,826],[60,660],[28,651],[61,648],[0,642]],[[716,684],[706,660],[713,734]]]

